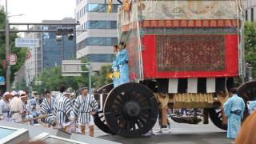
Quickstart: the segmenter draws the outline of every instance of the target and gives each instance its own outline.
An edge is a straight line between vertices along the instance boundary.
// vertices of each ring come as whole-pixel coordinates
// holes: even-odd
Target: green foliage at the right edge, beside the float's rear
[[[253,76],[256,77],[256,23],[245,24],[245,55],[246,62],[253,67]]]

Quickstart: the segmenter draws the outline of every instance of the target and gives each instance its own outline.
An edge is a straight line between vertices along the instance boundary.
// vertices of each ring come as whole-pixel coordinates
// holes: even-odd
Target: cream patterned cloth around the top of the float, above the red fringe
[[[207,20],[238,18],[236,0],[168,0],[140,1],[143,5],[140,13],[143,20]],[[121,26],[129,25],[138,19],[136,3],[132,2],[129,12],[119,11]]]

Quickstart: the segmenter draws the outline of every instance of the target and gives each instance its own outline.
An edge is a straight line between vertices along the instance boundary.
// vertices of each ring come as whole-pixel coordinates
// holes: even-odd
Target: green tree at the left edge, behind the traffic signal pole
[[[5,29],[6,13],[3,9],[0,10],[0,30]],[[10,49],[12,54],[17,54],[18,61],[16,65],[11,66],[10,82],[14,82],[14,74],[21,68],[26,60],[26,49],[17,49],[14,47],[15,38],[17,34],[10,34]],[[6,37],[5,33],[0,33],[0,76],[6,76]],[[6,90],[6,86],[0,86],[0,90]]]

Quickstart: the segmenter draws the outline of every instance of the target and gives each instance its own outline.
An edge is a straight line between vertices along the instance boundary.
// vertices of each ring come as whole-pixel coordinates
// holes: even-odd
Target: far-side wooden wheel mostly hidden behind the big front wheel
[[[107,94],[114,88],[113,84],[108,84],[106,86],[102,86],[100,89],[97,90],[98,94]],[[112,130],[110,130],[109,126],[106,125],[106,121],[103,115],[103,111],[100,110],[97,114],[94,114],[94,123],[98,126],[99,129],[104,131],[107,134],[114,134]]]

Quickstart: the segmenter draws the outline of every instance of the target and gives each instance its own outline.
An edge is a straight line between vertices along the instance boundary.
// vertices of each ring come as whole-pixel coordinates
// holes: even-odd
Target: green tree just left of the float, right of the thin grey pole
[[[110,71],[111,65],[102,66],[98,75],[94,76],[94,86],[96,89],[112,82],[112,80],[107,77]]]

